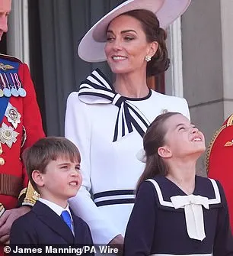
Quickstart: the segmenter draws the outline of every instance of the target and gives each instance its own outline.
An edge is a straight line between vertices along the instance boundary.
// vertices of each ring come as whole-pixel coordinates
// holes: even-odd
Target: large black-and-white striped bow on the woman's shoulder
[[[151,93],[151,91],[150,91]],[[149,122],[140,110],[129,102],[126,97],[115,92],[113,86],[101,70],[94,70],[90,76],[81,83],[78,97],[87,104],[113,104],[119,108],[113,135],[113,142],[126,134],[136,131],[143,137]]]

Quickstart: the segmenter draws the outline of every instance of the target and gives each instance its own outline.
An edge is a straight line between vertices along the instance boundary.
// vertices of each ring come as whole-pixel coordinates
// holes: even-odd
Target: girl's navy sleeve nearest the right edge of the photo
[[[218,186],[222,199],[222,207],[219,209],[213,256],[233,256],[233,236],[229,224],[228,205],[225,199],[225,193],[219,182]]]

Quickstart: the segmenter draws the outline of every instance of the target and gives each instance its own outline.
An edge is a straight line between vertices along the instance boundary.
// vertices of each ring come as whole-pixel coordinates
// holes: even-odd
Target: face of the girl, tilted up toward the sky
[[[165,134],[164,147],[168,150],[168,157],[189,157],[200,154],[206,150],[205,138],[201,131],[184,115],[173,115],[164,124]]]

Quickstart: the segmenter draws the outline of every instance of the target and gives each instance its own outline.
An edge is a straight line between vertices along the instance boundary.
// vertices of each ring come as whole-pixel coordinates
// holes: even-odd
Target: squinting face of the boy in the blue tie
[[[65,157],[50,161],[45,173],[40,173],[39,183],[35,180],[41,197],[60,206],[76,195],[81,181],[80,163]]]

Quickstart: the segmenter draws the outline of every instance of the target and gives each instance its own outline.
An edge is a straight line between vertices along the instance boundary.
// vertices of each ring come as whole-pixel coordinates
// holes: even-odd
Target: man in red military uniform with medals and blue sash
[[[0,40],[8,30],[11,0],[0,0]],[[37,199],[21,154],[44,136],[34,84],[26,64],[0,54],[0,255],[12,222]]]

